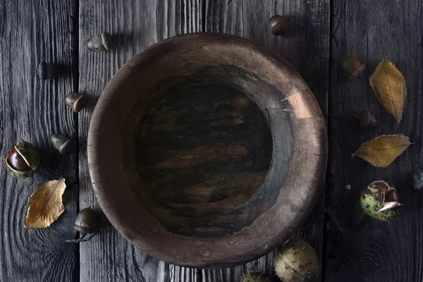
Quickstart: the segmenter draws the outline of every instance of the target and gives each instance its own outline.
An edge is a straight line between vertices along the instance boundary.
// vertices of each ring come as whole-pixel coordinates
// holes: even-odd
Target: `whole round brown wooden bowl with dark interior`
[[[327,137],[301,76],[247,39],[191,34],[125,63],[92,116],[94,192],[116,229],[165,262],[256,259],[305,221]]]

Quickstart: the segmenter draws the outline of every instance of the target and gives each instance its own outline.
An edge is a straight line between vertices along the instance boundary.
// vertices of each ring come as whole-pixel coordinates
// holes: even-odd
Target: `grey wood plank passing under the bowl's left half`
[[[80,1],[80,92],[90,97],[79,115],[80,207],[100,211],[87,164],[87,133],[94,104],[111,76],[137,52],[161,39],[202,30],[202,1]],[[98,32],[116,47],[94,54],[83,41]],[[102,232],[80,248],[81,281],[196,281],[197,271],[159,262],[130,245],[102,217]]]

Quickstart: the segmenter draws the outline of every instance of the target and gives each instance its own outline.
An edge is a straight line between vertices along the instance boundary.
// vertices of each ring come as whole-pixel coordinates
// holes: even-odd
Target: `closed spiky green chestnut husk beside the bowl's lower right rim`
[[[274,258],[276,275],[282,281],[306,281],[319,276],[316,251],[304,240],[290,240],[278,247]]]

